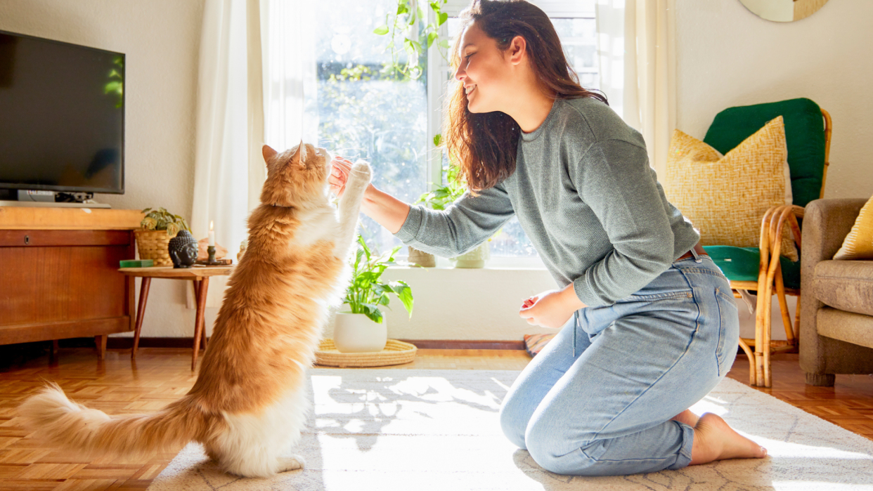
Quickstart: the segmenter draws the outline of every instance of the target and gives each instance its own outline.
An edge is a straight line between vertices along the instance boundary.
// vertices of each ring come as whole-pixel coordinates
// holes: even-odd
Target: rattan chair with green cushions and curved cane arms
[[[790,99],[755,106],[725,109],[716,115],[706,132],[705,143],[722,154],[737,147],[767,121],[782,116],[785,122],[788,167],[794,202],[770,208],[762,217],[757,248],[708,245],[706,252],[725,272],[734,295],[739,290],[757,293],[755,338],[740,338],[739,345],[749,358],[749,384],[773,385],[770,355],[774,351],[796,351],[800,328],[800,262],[780,256],[782,230],[789,227],[798,250],[801,247],[803,210],[809,201],[824,195],[830,151],[830,115],[810,99]],[[787,341],[771,340],[771,304],[776,295]],[[786,296],[798,297],[792,322]],[[752,351],[754,349],[754,351]]]

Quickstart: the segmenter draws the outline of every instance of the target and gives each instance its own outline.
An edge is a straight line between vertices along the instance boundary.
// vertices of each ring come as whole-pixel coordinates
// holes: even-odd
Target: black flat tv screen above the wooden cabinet
[[[0,31],[0,188],[124,193],[124,61]]]

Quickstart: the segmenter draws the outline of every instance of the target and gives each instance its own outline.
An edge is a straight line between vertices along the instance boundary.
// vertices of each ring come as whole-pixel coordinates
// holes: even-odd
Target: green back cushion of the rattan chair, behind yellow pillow
[[[716,115],[704,142],[722,154],[728,153],[779,115],[785,120],[794,204],[806,207],[821,196],[824,174],[824,120],[821,108],[812,100],[729,107]]]

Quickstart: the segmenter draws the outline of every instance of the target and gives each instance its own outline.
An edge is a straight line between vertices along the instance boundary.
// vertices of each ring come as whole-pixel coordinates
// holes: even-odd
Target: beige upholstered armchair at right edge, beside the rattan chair
[[[834,261],[863,199],[811,201],[801,242],[801,368],[808,385],[873,373],[873,261]]]

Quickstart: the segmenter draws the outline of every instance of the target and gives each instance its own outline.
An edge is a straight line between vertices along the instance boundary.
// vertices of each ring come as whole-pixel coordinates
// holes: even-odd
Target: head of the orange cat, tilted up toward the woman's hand
[[[283,207],[305,207],[327,196],[331,155],[324,148],[301,142],[278,153],[264,146],[267,179],[261,202]]]

